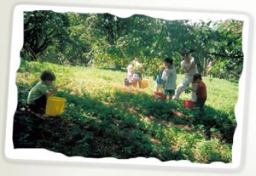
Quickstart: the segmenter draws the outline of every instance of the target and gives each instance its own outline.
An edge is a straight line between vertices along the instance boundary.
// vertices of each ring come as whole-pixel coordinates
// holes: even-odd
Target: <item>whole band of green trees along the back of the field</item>
[[[119,18],[113,14],[55,13],[51,10],[24,13],[24,60],[61,65],[95,65],[125,68],[137,57],[148,74],[160,60],[172,57],[177,71],[180,53],[194,49],[201,72],[214,62],[215,77],[238,80],[243,65],[240,20],[165,20],[134,14]]]

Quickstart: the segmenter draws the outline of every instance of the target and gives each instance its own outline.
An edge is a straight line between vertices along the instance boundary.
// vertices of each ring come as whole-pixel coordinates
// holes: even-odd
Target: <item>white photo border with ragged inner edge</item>
[[[242,20],[244,21],[242,32],[242,49],[244,54],[243,71],[239,82],[239,98],[236,103],[236,133],[232,148],[232,163],[212,162],[211,164],[192,163],[189,161],[170,161],[160,162],[155,158],[138,157],[136,159],[116,159],[116,158],[84,158],[80,156],[64,156],[44,149],[14,149],[12,133],[15,114],[15,105],[17,104],[17,87],[15,85],[16,71],[20,66],[20,49],[23,45],[23,13],[33,10],[53,10],[55,12],[77,12],[77,13],[109,13],[119,17],[129,17],[132,14],[145,14],[154,18],[162,18],[166,20]],[[136,166],[157,166],[157,167],[187,167],[187,168],[213,168],[234,170],[241,167],[242,149],[244,146],[244,118],[245,116],[245,93],[247,85],[247,43],[249,33],[249,18],[246,14],[226,14],[226,13],[202,13],[187,11],[171,11],[171,10],[148,10],[148,9],[110,9],[110,8],[92,8],[92,7],[61,7],[46,5],[17,5],[13,12],[13,26],[11,38],[11,54],[9,68],[9,94],[8,109],[6,121],[5,135],[5,156],[10,160],[18,161],[38,161],[38,162],[82,162],[82,163],[109,163],[109,164],[125,164]]]

